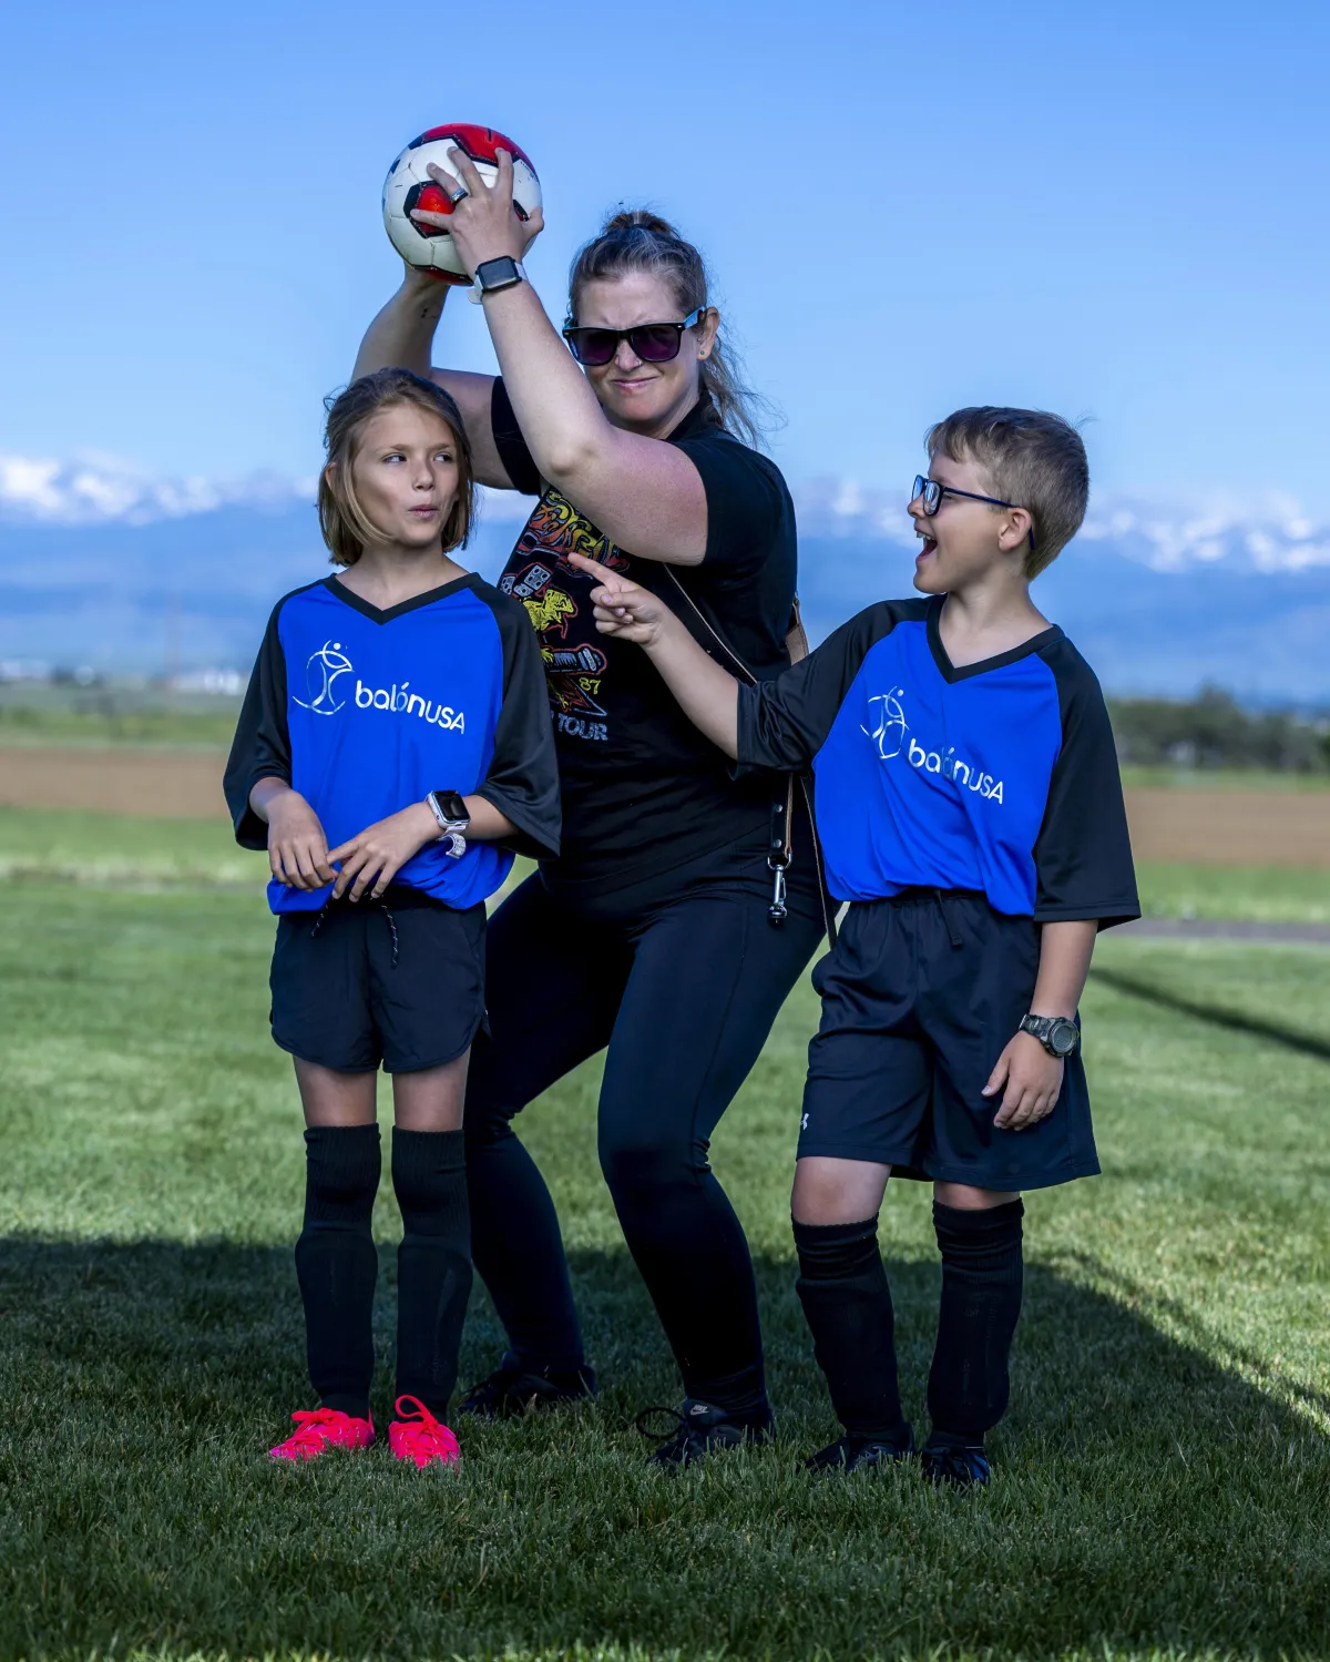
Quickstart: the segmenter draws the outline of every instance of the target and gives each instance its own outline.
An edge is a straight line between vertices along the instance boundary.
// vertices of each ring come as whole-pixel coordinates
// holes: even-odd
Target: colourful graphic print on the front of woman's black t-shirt
[[[535,625],[560,733],[603,743],[609,738],[601,703],[606,655],[588,602],[593,583],[568,565],[570,553],[628,570],[628,555],[551,487],[526,520],[498,587],[526,607]],[[570,588],[581,590],[581,602]]]

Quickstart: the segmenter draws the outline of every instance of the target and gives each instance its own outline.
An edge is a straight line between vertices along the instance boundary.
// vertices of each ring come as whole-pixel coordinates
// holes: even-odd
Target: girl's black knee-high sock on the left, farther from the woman
[[[306,1227],[296,1278],[306,1306],[309,1381],[324,1408],[369,1416],[374,1379],[370,1218],[382,1155],[377,1125],[310,1125],[306,1132]]]

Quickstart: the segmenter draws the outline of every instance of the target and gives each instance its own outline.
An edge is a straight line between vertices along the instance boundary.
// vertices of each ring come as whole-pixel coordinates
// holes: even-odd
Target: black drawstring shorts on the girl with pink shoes
[[[442,1067],[485,1020],[485,907],[453,911],[389,884],[382,901],[284,912],[269,984],[272,1037],[306,1062]]]

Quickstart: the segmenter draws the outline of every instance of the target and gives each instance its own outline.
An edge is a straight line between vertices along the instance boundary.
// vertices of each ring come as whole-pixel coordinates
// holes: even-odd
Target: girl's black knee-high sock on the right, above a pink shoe
[[[457,1132],[392,1132],[397,1248],[397,1394],[447,1418],[472,1295],[467,1152]]]

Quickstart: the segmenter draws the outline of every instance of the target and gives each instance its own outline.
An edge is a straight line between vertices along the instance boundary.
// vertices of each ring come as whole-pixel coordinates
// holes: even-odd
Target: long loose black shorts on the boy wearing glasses
[[[983,1087],[1029,1010],[1039,929],[983,894],[908,889],[850,906],[814,969],[822,1024],[809,1045],[799,1155],[875,1160],[900,1177],[1048,1188],[1099,1170],[1081,1052],[1053,1112],[993,1127]],[[1038,1012],[1036,1012],[1038,1014]]]

